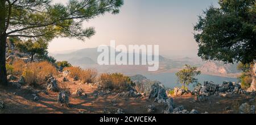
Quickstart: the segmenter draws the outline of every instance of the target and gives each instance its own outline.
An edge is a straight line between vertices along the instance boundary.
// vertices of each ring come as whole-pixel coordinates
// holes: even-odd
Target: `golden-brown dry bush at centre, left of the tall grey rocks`
[[[127,76],[124,76],[121,73],[113,74],[101,74],[100,76],[100,87],[101,89],[110,89],[117,91],[126,91],[130,90],[131,87],[134,87],[134,82]]]

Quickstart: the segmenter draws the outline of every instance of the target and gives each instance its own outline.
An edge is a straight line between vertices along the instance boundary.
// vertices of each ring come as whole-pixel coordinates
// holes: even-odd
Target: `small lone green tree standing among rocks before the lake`
[[[185,85],[197,83],[195,76],[199,74],[201,74],[200,70],[197,70],[196,67],[192,67],[186,64],[183,69],[176,73],[176,76],[178,81],[183,84],[183,89],[185,89]]]

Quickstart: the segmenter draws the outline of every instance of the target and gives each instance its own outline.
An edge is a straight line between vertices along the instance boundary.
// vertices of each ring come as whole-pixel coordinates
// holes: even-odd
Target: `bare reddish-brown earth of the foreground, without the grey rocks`
[[[60,77],[58,81],[61,80]],[[71,79],[71,78],[69,78]],[[59,84],[61,82],[58,82]],[[146,98],[123,98],[119,97],[116,93],[110,93],[103,96],[94,97],[93,91],[97,89],[96,86],[88,84],[80,84],[79,82],[66,82],[65,87],[69,88],[73,93],[78,87],[85,90],[87,97],[79,97],[71,95],[69,101],[71,106],[63,107],[57,103],[57,94],[48,92],[48,94],[39,92],[39,101],[33,101],[33,95],[30,91],[22,89],[15,89],[11,86],[0,86],[0,101],[5,103],[5,108],[0,109],[0,113],[5,114],[77,114],[79,111],[84,113],[104,113],[104,110],[115,113],[117,109],[123,109],[124,113],[138,114],[147,113],[147,105],[154,104],[156,106],[155,113],[163,113],[166,106],[149,101]],[[195,102],[193,95],[185,95],[183,97],[173,97],[174,103],[177,106],[183,105],[185,109],[191,111],[195,109],[200,113],[238,113],[238,107],[245,102],[252,99],[250,95],[233,95],[232,97],[219,97],[211,96],[208,101]],[[116,102],[112,102],[113,99]],[[255,101],[255,98],[254,98]],[[116,104],[117,106],[114,106]]]

